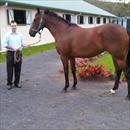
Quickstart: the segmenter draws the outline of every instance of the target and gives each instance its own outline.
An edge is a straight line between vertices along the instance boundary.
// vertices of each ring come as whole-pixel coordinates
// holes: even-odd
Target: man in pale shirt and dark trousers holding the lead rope
[[[22,48],[23,48],[23,35],[17,32],[16,21],[11,21],[11,31],[8,32],[3,40],[2,44],[7,48],[7,89],[10,90],[13,87],[13,74],[14,74],[14,86],[19,86],[20,73],[22,65]]]

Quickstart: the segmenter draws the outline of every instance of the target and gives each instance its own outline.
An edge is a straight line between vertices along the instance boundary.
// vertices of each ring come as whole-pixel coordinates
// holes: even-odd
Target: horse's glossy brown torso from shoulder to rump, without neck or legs
[[[118,53],[126,54],[128,37],[126,29],[116,24],[93,28],[71,26],[59,45],[60,53],[73,57],[93,57],[103,51],[117,56]]]

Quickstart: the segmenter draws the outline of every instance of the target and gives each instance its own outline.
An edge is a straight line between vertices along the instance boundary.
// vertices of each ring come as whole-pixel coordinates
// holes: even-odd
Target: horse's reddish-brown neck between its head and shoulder
[[[55,40],[58,40],[58,38],[62,35],[63,31],[66,30],[68,25],[65,25],[65,23],[62,23],[58,20],[47,20],[46,28],[49,29]]]

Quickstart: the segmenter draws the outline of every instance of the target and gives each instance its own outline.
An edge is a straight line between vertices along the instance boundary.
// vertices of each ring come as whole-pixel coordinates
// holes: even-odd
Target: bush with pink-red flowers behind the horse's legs
[[[113,75],[104,65],[95,65],[88,59],[77,58],[76,66],[77,75],[81,79],[113,79]]]

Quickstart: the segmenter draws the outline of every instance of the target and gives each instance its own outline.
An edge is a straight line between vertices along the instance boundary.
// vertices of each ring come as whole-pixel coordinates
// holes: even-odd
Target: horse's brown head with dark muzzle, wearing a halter
[[[35,14],[35,18],[32,22],[32,25],[29,30],[29,34],[32,37],[35,37],[35,35],[40,32],[41,29],[44,28],[44,19],[43,19],[44,14],[40,12],[39,9],[37,9],[37,13]]]

